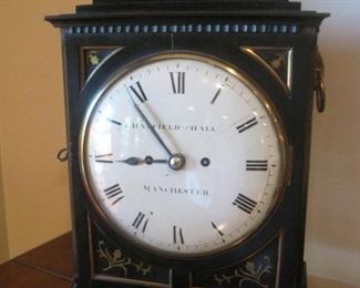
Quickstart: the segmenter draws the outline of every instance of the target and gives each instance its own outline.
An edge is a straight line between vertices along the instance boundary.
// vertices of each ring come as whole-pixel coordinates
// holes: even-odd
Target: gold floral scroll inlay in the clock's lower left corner
[[[143,263],[134,263],[134,260],[130,257],[124,257],[121,249],[113,249],[110,250],[103,240],[99,241],[99,258],[102,258],[105,260],[106,266],[101,267],[103,271],[109,271],[111,269],[120,269],[124,272],[124,275],[127,275],[127,270],[130,267],[133,267],[136,269],[136,271],[141,275],[147,275],[151,272],[152,267],[145,266]]]

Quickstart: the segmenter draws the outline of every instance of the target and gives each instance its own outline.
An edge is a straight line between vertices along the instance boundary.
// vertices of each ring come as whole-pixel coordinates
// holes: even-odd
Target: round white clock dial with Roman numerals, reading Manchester
[[[285,140],[271,105],[240,73],[206,56],[163,54],[119,72],[82,127],[89,195],[132,243],[209,255],[269,216]]]

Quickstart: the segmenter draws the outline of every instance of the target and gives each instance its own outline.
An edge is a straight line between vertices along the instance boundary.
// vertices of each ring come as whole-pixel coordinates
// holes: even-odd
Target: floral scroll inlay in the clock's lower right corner
[[[270,265],[270,258],[264,256],[260,263],[256,264],[255,261],[247,261],[244,266],[241,265],[237,269],[234,270],[230,275],[214,275],[214,280],[219,285],[223,286],[234,284],[236,279],[238,282],[236,284],[237,287],[243,287],[245,282],[253,282],[258,285],[261,288],[268,288],[269,285],[263,281],[263,276],[266,274],[271,274],[272,266]]]

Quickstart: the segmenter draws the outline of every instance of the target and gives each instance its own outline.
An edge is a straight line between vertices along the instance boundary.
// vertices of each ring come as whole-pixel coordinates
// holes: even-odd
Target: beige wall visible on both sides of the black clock
[[[43,17],[89,2],[0,0],[0,263],[71,228],[66,165],[55,160],[65,145],[60,35]],[[313,114],[306,241],[309,274],[330,281],[309,286],[357,287],[360,1],[301,2],[332,13],[319,38],[328,107]]]

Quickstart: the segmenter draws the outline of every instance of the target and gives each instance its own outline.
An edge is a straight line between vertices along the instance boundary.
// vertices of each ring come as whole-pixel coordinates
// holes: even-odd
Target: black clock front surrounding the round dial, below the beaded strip
[[[89,37],[85,32],[62,30],[78,271],[75,287],[103,287],[105,281],[122,282],[121,286],[114,284],[114,287],[138,287],[140,284],[146,287],[146,282],[148,286],[182,288],[239,287],[239,284],[240,287],[302,286],[306,179],[317,38],[316,31],[309,31],[259,35],[235,32],[135,33],[130,30],[121,34],[103,32]],[[188,261],[150,255],[120,239],[91,207],[79,168],[80,126],[92,91],[128,62],[173,51],[207,54],[244,71],[266,91],[275,105],[291,152],[284,195],[260,229],[230,251]],[[276,61],[278,65],[274,64]],[[104,255],[113,257],[107,259],[107,266]],[[128,269],[125,267],[126,272],[124,269],[104,271],[101,267],[105,265],[109,268],[114,257],[121,259],[123,255],[126,259],[138,259],[137,264],[133,260]],[[148,267],[155,267],[155,275],[142,278],[141,274],[145,274]],[[140,276],[136,271],[141,271]],[[239,271],[244,275],[239,276]],[[112,286],[107,284],[106,287]]]

